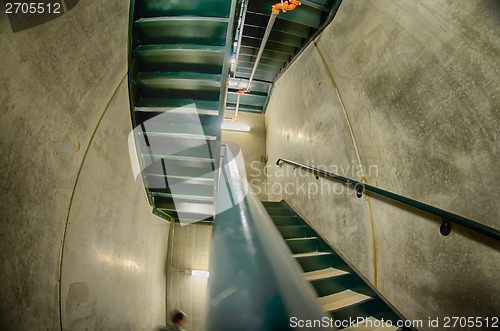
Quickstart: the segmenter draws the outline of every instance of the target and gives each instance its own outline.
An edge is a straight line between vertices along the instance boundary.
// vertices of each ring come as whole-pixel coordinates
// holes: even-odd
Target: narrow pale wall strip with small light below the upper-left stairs
[[[175,224],[169,237],[167,262],[167,317],[174,309],[187,315],[186,330],[205,330],[208,278],[191,270],[208,271],[212,226]]]

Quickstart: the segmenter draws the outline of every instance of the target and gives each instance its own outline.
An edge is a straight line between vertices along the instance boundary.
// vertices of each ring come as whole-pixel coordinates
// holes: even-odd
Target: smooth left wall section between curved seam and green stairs
[[[94,135],[73,196],[62,264],[67,330],[152,330],[165,324],[170,223],[134,182],[124,79]]]

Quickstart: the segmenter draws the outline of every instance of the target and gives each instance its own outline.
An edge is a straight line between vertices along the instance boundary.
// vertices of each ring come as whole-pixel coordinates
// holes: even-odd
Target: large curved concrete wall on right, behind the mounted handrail
[[[500,3],[344,0],[316,42],[275,86],[269,164],[364,175],[500,229]],[[268,186],[407,318],[500,311],[498,244],[286,165]]]

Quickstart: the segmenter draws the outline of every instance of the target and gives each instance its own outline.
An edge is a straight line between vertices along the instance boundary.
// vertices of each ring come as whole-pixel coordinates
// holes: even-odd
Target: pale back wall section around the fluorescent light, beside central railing
[[[226,118],[233,117],[234,111],[227,111]],[[250,132],[222,131],[222,141],[235,142],[241,147],[248,183],[261,200],[267,198],[266,194],[266,128],[265,118],[262,114],[239,113],[239,119],[230,122],[238,125],[248,125]]]

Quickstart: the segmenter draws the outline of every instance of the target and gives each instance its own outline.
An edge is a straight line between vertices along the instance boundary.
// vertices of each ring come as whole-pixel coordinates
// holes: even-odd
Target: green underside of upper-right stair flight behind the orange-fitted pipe
[[[268,25],[271,8],[276,3],[272,0],[250,1],[245,12],[241,43],[238,45],[239,54],[233,58],[238,59],[236,69],[232,73],[234,78],[249,79],[255,65],[256,56]],[[308,42],[316,36],[333,18],[340,0],[311,0],[304,1],[292,11],[280,13],[269,34],[268,42],[264,47],[262,61],[254,75],[255,82],[274,84],[277,77],[281,76],[288,68],[290,62],[307,46]],[[246,87],[246,86],[244,86]],[[243,87],[242,87],[243,88]],[[253,86],[250,87],[253,92]],[[262,96],[263,102],[243,104],[242,111],[265,112],[269,101],[269,89]],[[234,109],[233,98],[227,100],[227,108]],[[246,106],[246,108],[245,108]]]

